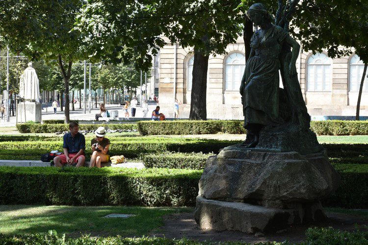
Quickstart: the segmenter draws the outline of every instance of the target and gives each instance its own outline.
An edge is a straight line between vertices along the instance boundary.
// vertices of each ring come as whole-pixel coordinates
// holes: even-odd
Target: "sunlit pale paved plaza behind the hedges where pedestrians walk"
[[[78,108],[78,109],[77,109]],[[124,112],[123,107],[117,104],[107,104],[106,108],[108,111],[117,110],[118,117],[123,118]],[[156,109],[156,105],[148,105],[148,114],[147,117],[151,117],[151,112]],[[162,110],[161,110],[162,111]],[[84,109],[79,109],[79,104],[75,105],[75,111],[70,111],[70,120],[95,120],[95,114],[100,112],[100,108],[91,109],[91,113],[88,113],[88,109],[86,110],[86,114],[84,114]],[[163,111],[162,111],[163,112]],[[163,112],[164,113],[164,112]],[[129,114],[131,116],[131,110],[129,109]],[[137,107],[135,112],[136,118],[143,117],[143,109],[141,107]],[[64,120],[64,112],[57,111],[56,114],[53,113],[53,107],[44,107],[42,108],[42,120],[50,120],[50,119],[61,119]],[[0,119],[0,127],[14,127],[17,122],[16,116],[10,117],[10,122],[5,122],[4,119]]]

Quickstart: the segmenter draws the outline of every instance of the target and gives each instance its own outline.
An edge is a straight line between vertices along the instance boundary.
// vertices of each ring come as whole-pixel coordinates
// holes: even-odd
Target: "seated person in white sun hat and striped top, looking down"
[[[91,140],[92,156],[90,168],[101,168],[101,163],[107,163],[110,160],[108,155],[108,147],[110,147],[110,141],[105,138],[105,127],[99,127],[95,131],[96,138]]]

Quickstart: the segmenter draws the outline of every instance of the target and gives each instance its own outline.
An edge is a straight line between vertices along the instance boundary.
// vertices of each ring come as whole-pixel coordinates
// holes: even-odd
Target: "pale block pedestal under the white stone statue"
[[[37,102],[20,102],[17,109],[17,117],[19,123],[26,123],[29,121],[41,123],[42,108],[41,103]]]

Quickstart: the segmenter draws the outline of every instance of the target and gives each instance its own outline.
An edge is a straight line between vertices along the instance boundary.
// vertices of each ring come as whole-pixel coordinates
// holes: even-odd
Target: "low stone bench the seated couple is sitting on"
[[[90,162],[84,162],[84,167],[89,167]],[[51,167],[51,163],[36,161],[36,160],[0,160],[0,166],[14,166],[14,167]],[[102,163],[101,167],[112,168],[136,168],[144,169],[143,163],[127,162],[127,163]]]

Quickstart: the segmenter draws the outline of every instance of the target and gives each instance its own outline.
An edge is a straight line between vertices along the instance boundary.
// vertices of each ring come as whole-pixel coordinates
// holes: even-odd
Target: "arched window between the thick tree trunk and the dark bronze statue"
[[[245,56],[232,53],[225,61],[225,90],[239,90],[245,69]]]

